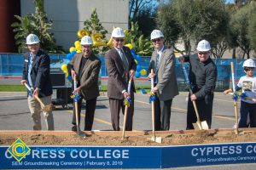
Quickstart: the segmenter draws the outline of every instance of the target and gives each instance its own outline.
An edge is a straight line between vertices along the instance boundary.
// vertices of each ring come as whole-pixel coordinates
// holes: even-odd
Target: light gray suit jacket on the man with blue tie
[[[152,54],[148,73],[155,67],[157,51]],[[156,87],[160,100],[172,99],[178,94],[177,79],[175,73],[175,56],[172,49],[164,48],[160,56],[159,67],[157,70],[158,82]]]

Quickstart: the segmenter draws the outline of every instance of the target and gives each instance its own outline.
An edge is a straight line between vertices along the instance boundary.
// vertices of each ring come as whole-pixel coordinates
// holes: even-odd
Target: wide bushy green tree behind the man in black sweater
[[[221,0],[170,0],[160,7],[157,20],[158,26],[167,33],[166,37],[171,36],[172,44],[182,40],[185,52],[189,54],[191,44],[201,39],[207,39],[213,48],[224,48],[224,40],[218,37],[226,33],[227,16]]]

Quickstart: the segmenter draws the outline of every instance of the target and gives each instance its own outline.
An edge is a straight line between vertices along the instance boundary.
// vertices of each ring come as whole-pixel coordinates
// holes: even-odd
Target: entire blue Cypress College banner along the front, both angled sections
[[[11,147],[0,146],[0,169],[166,168],[256,162],[256,143],[28,147],[30,152],[17,161]]]

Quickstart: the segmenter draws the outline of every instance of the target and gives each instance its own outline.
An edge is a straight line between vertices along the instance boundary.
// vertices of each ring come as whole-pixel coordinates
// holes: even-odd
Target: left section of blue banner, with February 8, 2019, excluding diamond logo
[[[0,146],[0,169],[159,168],[160,147],[29,146],[16,161],[9,147]]]

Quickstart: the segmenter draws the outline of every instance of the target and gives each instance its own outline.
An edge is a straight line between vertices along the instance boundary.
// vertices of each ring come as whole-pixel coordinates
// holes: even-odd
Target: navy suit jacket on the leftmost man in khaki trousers
[[[28,62],[30,52],[24,54],[23,76],[22,80],[28,82]],[[45,97],[52,94],[52,85],[49,76],[49,55],[39,50],[32,63],[31,79],[33,88],[39,89],[39,97]]]

